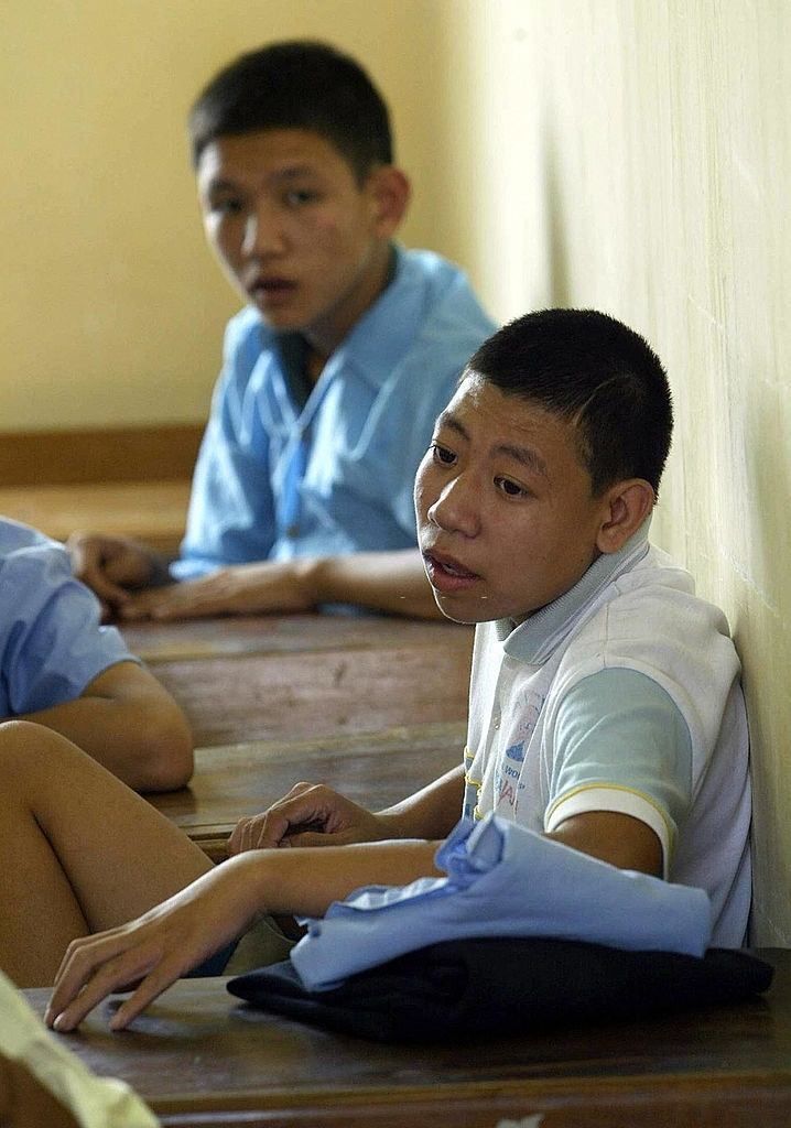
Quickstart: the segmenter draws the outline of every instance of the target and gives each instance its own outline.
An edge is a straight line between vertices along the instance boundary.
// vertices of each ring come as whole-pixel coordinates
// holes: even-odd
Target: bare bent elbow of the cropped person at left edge
[[[60,732],[135,791],[172,791],[192,775],[192,737],[182,711],[134,662],[116,662],[80,697],[18,720]]]

